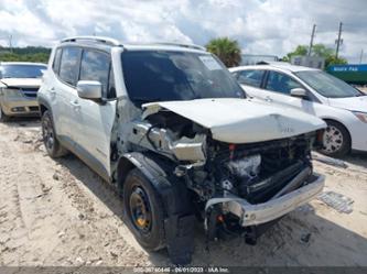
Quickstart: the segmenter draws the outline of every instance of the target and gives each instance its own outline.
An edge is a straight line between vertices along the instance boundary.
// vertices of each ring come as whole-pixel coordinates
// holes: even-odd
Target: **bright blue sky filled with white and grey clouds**
[[[367,63],[367,0],[0,0],[0,45],[52,46],[74,35],[121,42],[238,41],[242,53],[279,57],[296,45],[335,48],[343,22],[341,56]]]

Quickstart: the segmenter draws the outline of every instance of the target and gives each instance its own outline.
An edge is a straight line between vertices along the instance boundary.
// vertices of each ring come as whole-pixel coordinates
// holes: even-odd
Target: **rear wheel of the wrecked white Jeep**
[[[48,110],[46,110],[41,118],[42,122],[42,138],[44,146],[48,155],[53,158],[61,157],[67,154],[67,150],[62,146],[57,140],[55,133],[54,124],[52,121],[52,116]]]

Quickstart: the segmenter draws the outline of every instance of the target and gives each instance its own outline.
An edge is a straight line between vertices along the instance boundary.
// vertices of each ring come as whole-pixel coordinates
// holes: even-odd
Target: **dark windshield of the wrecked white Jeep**
[[[245,97],[227,68],[206,53],[126,51],[122,67],[128,95],[139,105]]]

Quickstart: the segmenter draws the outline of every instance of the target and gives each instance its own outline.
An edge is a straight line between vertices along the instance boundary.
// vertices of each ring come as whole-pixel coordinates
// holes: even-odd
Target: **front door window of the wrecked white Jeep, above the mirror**
[[[107,98],[110,58],[108,54],[84,50],[79,80],[98,80],[102,85],[102,96]]]

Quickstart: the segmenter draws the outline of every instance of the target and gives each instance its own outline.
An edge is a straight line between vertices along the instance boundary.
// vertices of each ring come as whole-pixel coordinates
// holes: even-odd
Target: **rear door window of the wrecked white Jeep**
[[[78,47],[64,47],[61,57],[60,78],[72,85],[76,86],[76,80],[79,70],[80,48]]]

